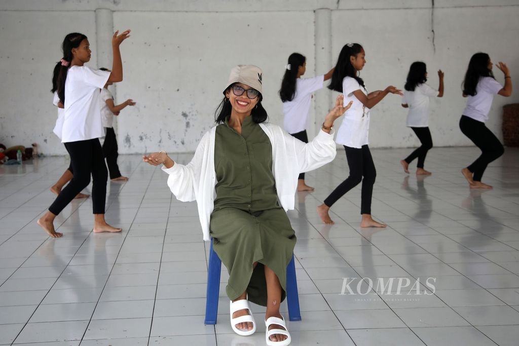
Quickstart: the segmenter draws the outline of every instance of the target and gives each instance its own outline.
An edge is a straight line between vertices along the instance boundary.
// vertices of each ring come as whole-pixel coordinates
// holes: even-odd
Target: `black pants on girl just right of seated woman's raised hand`
[[[339,184],[324,200],[324,204],[332,206],[339,198],[343,197],[346,192],[356,187],[362,182],[361,191],[361,214],[371,214],[371,197],[373,195],[373,185],[377,171],[371,157],[370,148],[363,145],[361,149],[344,146],[346,150],[346,159],[350,175]]]

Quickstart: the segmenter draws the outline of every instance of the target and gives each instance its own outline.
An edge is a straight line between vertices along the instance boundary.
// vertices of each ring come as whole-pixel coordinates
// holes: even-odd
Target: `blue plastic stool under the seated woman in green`
[[[220,295],[220,270],[222,261],[213,250],[213,241],[209,250],[209,270],[207,273],[206,321],[205,324],[216,324],[218,311],[218,296]],[[297,295],[297,281],[295,276],[294,255],[289,266],[286,267],[286,302],[289,306],[290,321],[301,321],[299,311],[299,296]]]

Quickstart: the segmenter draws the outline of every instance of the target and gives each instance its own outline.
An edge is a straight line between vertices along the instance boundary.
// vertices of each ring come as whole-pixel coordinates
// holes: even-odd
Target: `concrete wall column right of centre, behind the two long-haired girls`
[[[321,8],[315,11],[316,76],[332,68],[332,10]],[[324,82],[326,86],[329,82]],[[325,87],[326,88],[326,87]],[[321,90],[315,93],[315,133],[320,131],[324,115],[328,113],[332,92]]]

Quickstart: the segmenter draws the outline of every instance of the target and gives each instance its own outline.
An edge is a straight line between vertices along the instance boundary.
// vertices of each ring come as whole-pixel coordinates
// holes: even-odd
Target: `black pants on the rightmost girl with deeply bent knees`
[[[481,182],[481,177],[485,172],[487,165],[503,155],[504,147],[482,121],[477,121],[468,116],[462,115],[459,119],[459,128],[464,135],[474,142],[481,149],[481,156],[467,167],[474,176],[475,182]]]

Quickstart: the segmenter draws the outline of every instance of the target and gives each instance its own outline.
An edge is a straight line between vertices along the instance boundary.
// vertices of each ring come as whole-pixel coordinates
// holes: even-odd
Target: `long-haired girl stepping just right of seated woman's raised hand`
[[[373,185],[377,175],[368,144],[370,127],[370,109],[386,97],[388,93],[402,95],[401,90],[389,86],[384,91],[367,93],[364,81],[359,73],[366,64],[366,53],[358,43],[348,43],[339,53],[337,65],[332,75],[329,89],[344,94],[344,104],[352,102],[346,111],[335,142],[342,144],[346,150],[346,159],[350,174],[328,196],[324,203],[317,207],[317,212],[325,224],[333,224],[330,218],[330,207],[346,192],[362,182],[361,192],[361,227],[386,227],[376,222],[371,216],[371,198]]]

